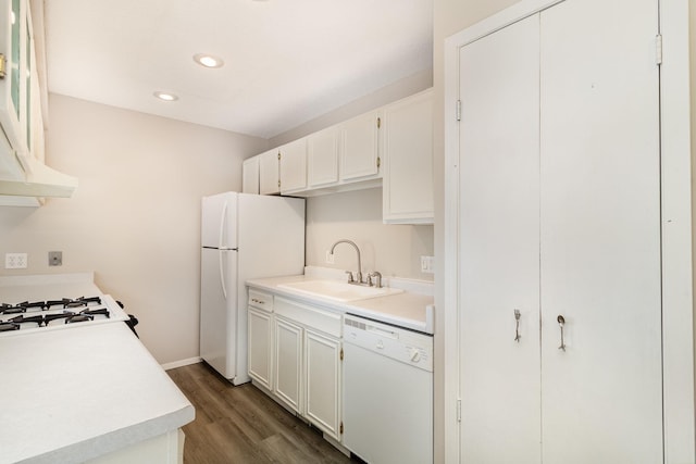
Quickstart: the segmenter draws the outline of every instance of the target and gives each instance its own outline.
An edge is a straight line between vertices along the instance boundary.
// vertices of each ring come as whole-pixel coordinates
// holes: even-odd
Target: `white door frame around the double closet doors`
[[[459,462],[459,49],[562,0],[521,0],[445,40],[444,195],[444,432],[446,463]],[[692,147],[689,100],[689,0],[659,0],[662,387],[664,463],[693,462],[694,310],[692,251]],[[658,2],[656,1],[656,4]]]

